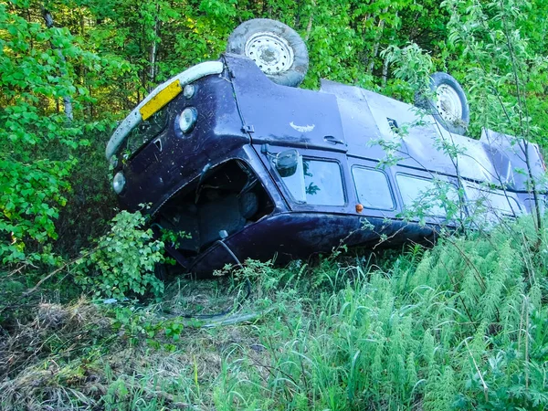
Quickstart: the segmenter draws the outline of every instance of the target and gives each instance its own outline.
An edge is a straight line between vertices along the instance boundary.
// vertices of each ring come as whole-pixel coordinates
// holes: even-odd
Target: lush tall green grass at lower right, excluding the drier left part
[[[286,311],[258,327],[260,360],[226,355],[231,390],[216,397],[231,402],[216,406],[544,409],[547,251],[532,251],[533,230],[448,237],[388,270],[324,263],[274,292]]]

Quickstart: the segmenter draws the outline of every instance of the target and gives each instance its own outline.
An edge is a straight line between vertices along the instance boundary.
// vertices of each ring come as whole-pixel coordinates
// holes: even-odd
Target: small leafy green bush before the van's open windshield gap
[[[153,238],[151,228],[143,228],[145,218],[139,211],[122,211],[112,223],[97,247],[79,258],[74,269],[77,283],[96,296],[123,299],[151,291],[160,297],[163,282],[154,269],[165,260],[163,241]]]

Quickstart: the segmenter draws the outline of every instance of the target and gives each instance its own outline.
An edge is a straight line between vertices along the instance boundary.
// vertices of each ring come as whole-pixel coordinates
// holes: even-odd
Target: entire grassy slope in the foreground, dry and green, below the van
[[[544,409],[534,238],[523,220],[429,250],[249,261],[150,305],[42,302],[0,347],[2,409]],[[227,309],[237,323],[178,316]]]

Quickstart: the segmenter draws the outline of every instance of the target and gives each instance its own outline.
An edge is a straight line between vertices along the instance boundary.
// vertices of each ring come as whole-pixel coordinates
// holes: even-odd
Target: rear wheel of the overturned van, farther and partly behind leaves
[[[430,76],[430,92],[430,96],[418,94],[415,99],[416,106],[432,114],[448,132],[465,134],[470,121],[469,103],[458,81],[447,73],[434,73]],[[448,93],[457,99],[444,99],[440,97],[440,93]],[[434,96],[437,98],[433,98]],[[449,113],[447,107],[444,110],[446,105],[451,105],[449,100],[453,100],[453,108],[456,109],[453,113]]]

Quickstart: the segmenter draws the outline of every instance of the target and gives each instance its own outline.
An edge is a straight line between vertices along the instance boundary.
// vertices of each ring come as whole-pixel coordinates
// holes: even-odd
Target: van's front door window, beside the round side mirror
[[[313,205],[344,205],[341,167],[338,163],[300,157],[297,171],[282,181],[293,199]]]

